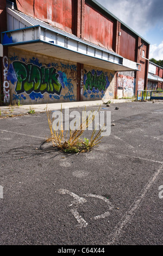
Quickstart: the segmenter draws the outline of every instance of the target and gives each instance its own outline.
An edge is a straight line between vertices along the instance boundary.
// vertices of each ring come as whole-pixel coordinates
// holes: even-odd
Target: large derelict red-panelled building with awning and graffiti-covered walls
[[[149,42],[95,0],[0,2],[3,103],[131,97],[147,87]]]

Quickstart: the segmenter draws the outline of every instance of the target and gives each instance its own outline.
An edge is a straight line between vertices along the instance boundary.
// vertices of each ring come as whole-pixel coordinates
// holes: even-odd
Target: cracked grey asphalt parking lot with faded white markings
[[[110,136],[78,155],[43,143],[46,113],[0,119],[1,245],[162,245],[163,103],[116,106],[100,109]]]

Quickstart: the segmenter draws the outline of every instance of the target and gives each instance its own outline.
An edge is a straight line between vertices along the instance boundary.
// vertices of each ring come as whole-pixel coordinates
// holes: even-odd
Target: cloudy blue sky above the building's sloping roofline
[[[163,59],[162,0],[96,0],[150,45],[149,58]]]

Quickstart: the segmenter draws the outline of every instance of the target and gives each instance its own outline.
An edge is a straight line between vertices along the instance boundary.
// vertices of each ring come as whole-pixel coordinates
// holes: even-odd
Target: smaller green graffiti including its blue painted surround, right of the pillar
[[[91,70],[84,74],[84,97],[90,99],[104,98],[105,90],[109,87],[114,75],[99,70]]]

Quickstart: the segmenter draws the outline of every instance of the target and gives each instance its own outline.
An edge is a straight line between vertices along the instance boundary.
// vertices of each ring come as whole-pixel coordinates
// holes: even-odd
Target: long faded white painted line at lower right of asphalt
[[[116,227],[114,228],[114,231],[109,235],[109,241],[108,245],[114,244],[114,242],[118,239],[118,237],[123,232],[124,227],[128,224],[128,222],[131,221],[131,218],[133,218],[135,211],[139,209],[142,200],[145,198],[149,188],[153,185],[155,179],[160,174],[161,170],[163,169],[163,166],[160,166],[160,168],[153,174],[151,179],[149,179],[146,186],[143,188],[141,195],[136,198],[135,202],[130,206],[129,210],[126,212],[126,214],[123,215],[122,221],[119,222]]]

